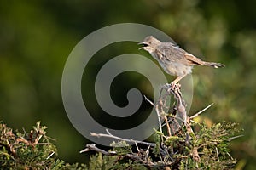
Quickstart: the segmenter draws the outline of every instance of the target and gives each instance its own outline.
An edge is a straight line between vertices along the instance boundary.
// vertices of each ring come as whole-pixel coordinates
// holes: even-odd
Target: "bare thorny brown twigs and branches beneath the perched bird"
[[[168,97],[171,97],[172,95],[175,99],[175,103],[174,105],[172,105],[172,108],[170,107],[170,105],[167,105],[167,99]],[[145,96],[144,96],[145,97]],[[175,156],[175,154],[177,154],[179,152],[179,150],[181,149],[174,149],[174,146],[171,144],[169,146],[166,146],[166,144],[163,142],[164,139],[169,139],[173,137],[173,135],[180,133],[181,128],[186,129],[185,133],[186,133],[186,139],[184,141],[184,144],[186,144],[187,146],[191,146],[190,144],[190,139],[191,139],[191,134],[194,134],[191,126],[190,126],[190,122],[192,121],[193,118],[195,118],[196,116],[199,116],[201,114],[201,112],[206,111],[209,107],[212,106],[208,105],[205,109],[203,109],[202,111],[199,111],[198,113],[196,113],[194,116],[189,117],[187,115],[187,111],[186,111],[186,103],[183,99],[182,93],[181,93],[181,85],[180,84],[166,84],[164,86],[162,86],[161,90],[160,90],[160,98],[158,99],[158,101],[156,102],[156,104],[154,104],[153,102],[151,102],[148,98],[145,97],[145,99],[154,106],[154,109],[156,111],[156,114],[158,116],[159,119],[159,128],[160,128],[160,133],[163,134],[163,127],[166,127],[167,136],[164,135],[160,135],[161,137],[161,143],[160,145],[154,144],[154,143],[148,143],[148,142],[143,142],[143,141],[137,141],[137,140],[133,140],[133,139],[123,139],[117,136],[114,136],[113,134],[109,133],[108,129],[106,129],[107,134],[104,133],[90,133],[90,135],[92,136],[96,136],[98,138],[111,138],[111,139],[118,139],[119,141],[125,141],[128,143],[132,143],[132,144],[145,144],[148,145],[148,149],[147,150],[142,150],[139,149],[137,146],[137,153],[131,152],[131,153],[127,153],[125,156],[130,157],[132,160],[134,161],[138,161],[143,163],[144,165],[147,165],[148,167],[154,167],[156,166],[156,164],[153,161],[149,161],[148,160],[148,154],[149,154],[149,149],[151,150],[155,150],[156,147],[159,147],[158,150],[160,150],[159,153],[159,157],[160,157],[160,161],[162,162],[162,166],[166,167],[166,166],[171,166],[175,163],[177,163],[175,160],[175,158],[173,158],[173,156]],[[165,121],[165,123],[162,123],[162,121]],[[194,134],[195,135],[195,134]],[[99,148],[96,147],[96,144],[87,144],[86,148],[84,150],[81,150],[80,153],[82,152],[86,152],[89,150],[95,150],[96,152],[101,152],[104,155],[107,156],[114,156],[114,155],[118,155],[117,152],[115,151],[105,151],[105,150],[101,150]],[[194,147],[192,148],[191,152],[190,152],[190,156],[193,158],[194,161],[198,162],[200,161],[200,156],[198,154],[198,148]],[[159,166],[159,164],[158,164]]]

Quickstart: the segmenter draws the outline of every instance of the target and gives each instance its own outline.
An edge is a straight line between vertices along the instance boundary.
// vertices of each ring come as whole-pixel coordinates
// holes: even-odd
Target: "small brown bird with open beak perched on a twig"
[[[190,74],[194,65],[207,65],[214,68],[224,67],[220,63],[202,61],[182,48],[179,48],[176,44],[172,42],[160,42],[152,36],[146,37],[139,44],[143,45],[139,49],[148,51],[168,74],[177,76],[172,82],[172,85],[175,85],[183,77]]]

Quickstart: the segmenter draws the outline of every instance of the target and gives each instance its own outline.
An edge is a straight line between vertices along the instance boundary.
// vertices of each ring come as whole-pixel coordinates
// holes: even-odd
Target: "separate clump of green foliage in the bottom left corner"
[[[0,169],[82,169],[83,165],[70,165],[55,158],[57,150],[45,129],[38,122],[29,133],[14,133],[1,123]]]

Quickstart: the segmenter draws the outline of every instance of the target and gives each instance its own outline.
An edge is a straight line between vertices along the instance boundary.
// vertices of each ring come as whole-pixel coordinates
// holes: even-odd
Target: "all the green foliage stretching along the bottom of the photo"
[[[29,133],[15,133],[5,124],[0,124],[0,169],[232,169],[236,159],[230,156],[230,141],[241,133],[236,123],[223,122],[207,127],[206,123],[193,123],[195,133],[181,128],[176,134],[166,137],[155,131],[154,147],[143,149],[124,141],[113,142],[110,155],[101,152],[90,156],[88,167],[78,163],[69,164],[56,158],[57,150],[46,127],[40,122]],[[188,137],[189,135],[189,137]],[[164,139],[160,141],[160,139]],[[194,151],[199,153],[195,160]]]

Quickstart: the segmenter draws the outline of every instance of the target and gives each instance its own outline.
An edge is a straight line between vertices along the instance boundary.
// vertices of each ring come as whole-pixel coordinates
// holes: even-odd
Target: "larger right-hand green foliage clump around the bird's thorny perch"
[[[238,124],[222,122],[207,127],[206,123],[193,123],[192,126],[197,129],[195,133],[188,134],[185,128],[170,137],[154,133],[154,136],[159,136],[158,139],[164,137],[164,141],[150,147],[150,152],[137,147],[132,150],[124,141],[114,143],[112,151],[116,155],[102,156],[102,153],[98,153],[91,156],[90,168],[234,169],[237,161],[230,156],[230,141],[241,133]],[[199,155],[196,159],[195,150]]]

